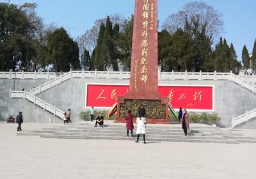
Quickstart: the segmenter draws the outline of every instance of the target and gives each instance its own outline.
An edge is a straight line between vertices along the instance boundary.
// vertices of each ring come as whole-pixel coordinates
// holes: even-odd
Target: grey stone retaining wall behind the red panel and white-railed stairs
[[[33,88],[44,80],[16,80],[15,88]],[[45,91],[38,97],[46,100],[63,111],[71,109],[72,121],[80,121],[79,113],[85,111],[85,85],[88,83],[109,83],[109,84],[129,84],[129,80],[121,79],[70,79],[62,84]],[[241,86],[230,81],[159,81],[159,84],[182,84],[182,85],[214,85],[214,108],[221,117],[221,126],[230,127],[232,116],[238,116],[255,109],[256,95],[247,91]],[[33,104],[23,99],[10,99],[9,88],[13,88],[13,80],[0,80],[0,119],[6,120],[9,114],[17,114],[20,110],[26,111],[24,117],[31,122],[49,122],[52,114],[47,113],[40,107],[33,107]],[[10,106],[8,104],[14,103]],[[31,104],[31,105],[30,105]],[[51,119],[51,122],[58,120]]]

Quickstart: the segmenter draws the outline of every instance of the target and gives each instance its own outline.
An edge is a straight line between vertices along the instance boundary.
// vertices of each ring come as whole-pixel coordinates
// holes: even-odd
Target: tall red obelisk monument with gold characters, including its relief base
[[[157,0],[136,0],[132,35],[129,91],[118,97],[116,120],[128,109],[136,116],[146,109],[148,123],[168,122],[168,98],[158,93]]]

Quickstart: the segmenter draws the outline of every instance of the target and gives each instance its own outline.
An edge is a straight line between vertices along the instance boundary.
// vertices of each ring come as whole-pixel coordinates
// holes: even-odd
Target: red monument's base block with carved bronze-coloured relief
[[[138,95],[138,94],[137,94]],[[138,96],[127,95],[125,97],[118,97],[116,121],[118,123],[125,122],[125,114],[128,110],[132,111],[134,118],[138,118],[138,109],[141,105],[146,109],[147,123],[169,123],[168,120],[168,98],[160,95],[151,95],[148,98],[141,98]],[[136,120],[134,120],[136,122]]]

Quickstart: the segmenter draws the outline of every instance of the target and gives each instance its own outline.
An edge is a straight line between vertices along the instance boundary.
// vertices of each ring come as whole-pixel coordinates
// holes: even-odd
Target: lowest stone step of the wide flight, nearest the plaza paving
[[[65,136],[65,135],[51,135],[43,134],[40,137],[44,138],[59,138],[59,139],[106,139],[106,140],[131,140],[135,141],[134,138],[127,137],[109,137],[109,136]],[[142,138],[142,137],[141,137]],[[185,142],[185,143],[225,143],[225,144],[239,144],[237,141],[232,140],[205,140],[205,139],[168,139],[168,138],[157,138],[157,137],[146,137],[146,141],[168,141],[168,142]]]

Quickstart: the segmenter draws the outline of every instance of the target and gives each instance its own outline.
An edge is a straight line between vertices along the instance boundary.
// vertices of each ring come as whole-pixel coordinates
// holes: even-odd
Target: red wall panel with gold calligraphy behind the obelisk
[[[86,107],[111,107],[118,96],[124,96],[129,85],[86,84]],[[173,108],[214,111],[213,86],[158,86]]]

